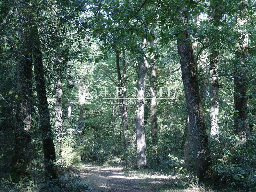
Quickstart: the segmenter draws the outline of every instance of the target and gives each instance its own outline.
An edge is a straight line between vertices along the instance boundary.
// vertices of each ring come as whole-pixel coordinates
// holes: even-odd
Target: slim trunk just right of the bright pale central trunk
[[[154,39],[151,39],[151,46],[154,48],[155,42]],[[157,138],[157,125],[156,125],[156,60],[154,56],[151,58],[151,78],[150,78],[150,87],[152,88],[152,96],[151,96],[151,137],[152,144],[156,145],[158,142]]]

